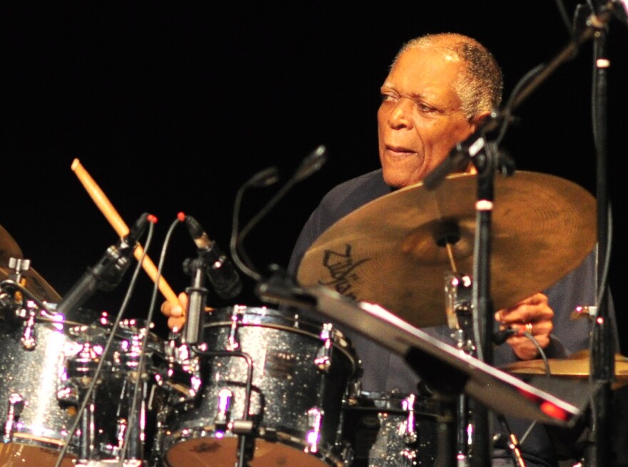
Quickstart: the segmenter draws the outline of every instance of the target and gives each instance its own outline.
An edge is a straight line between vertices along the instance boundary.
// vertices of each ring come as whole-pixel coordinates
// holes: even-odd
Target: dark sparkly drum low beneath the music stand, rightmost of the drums
[[[445,467],[455,449],[455,405],[396,392],[362,392],[343,409],[352,467]]]

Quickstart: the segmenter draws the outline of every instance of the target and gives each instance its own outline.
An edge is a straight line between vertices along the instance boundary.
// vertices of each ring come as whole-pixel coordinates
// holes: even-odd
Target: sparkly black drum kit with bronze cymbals
[[[513,401],[520,409],[529,404],[530,418],[542,419],[547,412],[537,403],[550,401],[568,419],[579,413],[577,404],[561,406],[551,394],[544,399],[547,393],[510,376],[543,374],[547,362],[521,361],[503,371],[481,362],[469,366],[450,353],[455,350],[414,331],[447,324],[442,280],[452,264],[470,266],[473,183],[472,176],[456,175],[440,190],[412,186],[338,221],[306,253],[301,290],[324,284],[331,292],[332,282],[345,281],[352,257],[326,252],[355,245],[353,253],[368,258],[368,273],[350,283],[351,298],[377,302],[393,318],[356,308],[344,296],[312,292],[323,314],[345,317],[345,324],[359,321],[351,313],[368,315],[359,330],[394,342],[391,349],[400,353],[435,349],[452,368],[475,375],[469,394],[499,409]],[[500,307],[547,287],[582,261],[595,243],[595,202],[567,180],[536,173],[497,180],[496,193],[492,285]],[[552,235],[556,231],[561,234]],[[549,258],[546,269],[515,274],[510,259],[532,251]],[[106,313],[58,309],[59,294],[1,227],[0,258],[1,466],[432,466],[442,451],[452,451],[451,401],[430,391],[361,391],[360,356],[328,322],[281,307],[234,305],[206,314],[201,341],[192,348],[181,334],[163,339],[145,322],[126,319],[113,329]],[[616,363],[619,386],[628,381],[628,360],[617,356]],[[587,354],[549,362],[552,374],[568,380],[584,379],[587,364]]]

